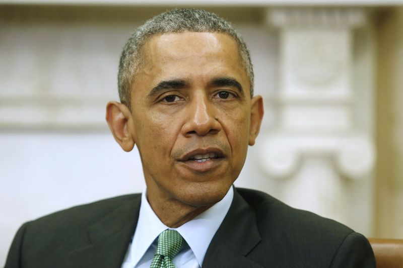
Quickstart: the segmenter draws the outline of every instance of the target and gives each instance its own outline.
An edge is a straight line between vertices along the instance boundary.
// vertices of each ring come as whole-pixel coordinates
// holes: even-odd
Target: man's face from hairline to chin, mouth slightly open
[[[220,201],[261,120],[251,128],[251,107],[261,99],[250,98],[237,44],[220,33],[155,35],[142,62],[131,120],[149,200],[196,207]]]

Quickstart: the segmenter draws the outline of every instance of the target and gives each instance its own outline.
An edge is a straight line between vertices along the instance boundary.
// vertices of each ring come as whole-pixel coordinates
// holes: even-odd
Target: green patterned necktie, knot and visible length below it
[[[178,231],[163,231],[158,236],[158,246],[150,268],[176,268],[172,258],[185,246],[186,242]]]

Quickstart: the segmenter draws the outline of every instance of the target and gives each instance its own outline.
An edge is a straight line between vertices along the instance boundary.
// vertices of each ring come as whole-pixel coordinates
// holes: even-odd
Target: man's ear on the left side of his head
[[[130,110],[124,104],[109,102],[106,105],[106,121],[120,147],[129,152],[135,146]]]

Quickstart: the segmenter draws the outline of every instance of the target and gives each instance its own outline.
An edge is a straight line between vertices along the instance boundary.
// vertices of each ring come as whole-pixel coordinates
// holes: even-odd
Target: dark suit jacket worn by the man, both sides
[[[367,239],[264,193],[234,189],[203,267],[375,267]],[[25,223],[5,268],[118,268],[139,216],[141,195],[74,207]]]

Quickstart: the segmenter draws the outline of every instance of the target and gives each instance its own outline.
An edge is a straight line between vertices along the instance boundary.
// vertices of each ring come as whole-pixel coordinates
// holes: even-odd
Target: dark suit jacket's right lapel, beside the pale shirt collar
[[[254,213],[234,188],[231,207],[207,249],[203,266],[262,267],[246,257],[260,239]]]

